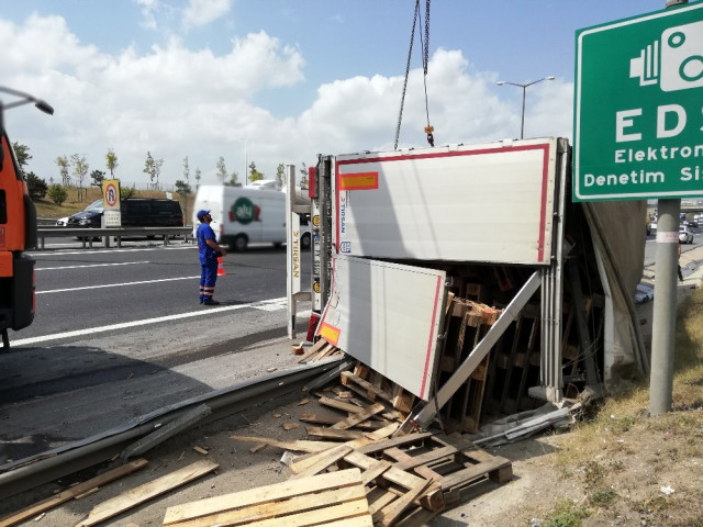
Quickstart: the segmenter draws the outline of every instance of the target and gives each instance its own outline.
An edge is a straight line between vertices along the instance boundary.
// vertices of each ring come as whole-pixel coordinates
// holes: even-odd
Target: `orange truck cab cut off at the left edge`
[[[9,347],[8,329],[22,329],[34,319],[36,209],[30,199],[10,139],[2,130],[0,150],[0,333]]]

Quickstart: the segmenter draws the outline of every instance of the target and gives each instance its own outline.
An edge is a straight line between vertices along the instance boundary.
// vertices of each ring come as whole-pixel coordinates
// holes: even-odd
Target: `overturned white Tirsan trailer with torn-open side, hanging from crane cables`
[[[538,306],[529,397],[563,397],[565,347],[577,349],[571,384],[613,389],[622,372],[646,373],[632,302],[646,204],[571,203],[566,139],[320,156],[310,181],[316,335],[425,401],[420,426],[499,355],[527,304]],[[447,295],[467,283],[501,316],[447,374]]]

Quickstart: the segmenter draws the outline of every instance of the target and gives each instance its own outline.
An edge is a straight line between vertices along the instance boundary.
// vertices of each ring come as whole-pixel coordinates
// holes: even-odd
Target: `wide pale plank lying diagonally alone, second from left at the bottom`
[[[216,470],[217,467],[220,466],[212,461],[200,460],[171,472],[170,474],[166,474],[161,478],[149,481],[148,483],[131,489],[119,496],[93,507],[88,517],[80,522],[76,527],[90,527],[92,525],[97,525],[177,486],[183,485],[209,472],[212,472]]]

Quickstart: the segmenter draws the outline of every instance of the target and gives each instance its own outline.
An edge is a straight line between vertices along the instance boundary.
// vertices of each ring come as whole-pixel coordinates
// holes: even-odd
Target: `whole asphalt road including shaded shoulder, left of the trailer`
[[[0,352],[0,468],[291,362],[253,347],[287,334],[284,248],[227,255],[216,307],[189,244],[33,256],[35,322]]]

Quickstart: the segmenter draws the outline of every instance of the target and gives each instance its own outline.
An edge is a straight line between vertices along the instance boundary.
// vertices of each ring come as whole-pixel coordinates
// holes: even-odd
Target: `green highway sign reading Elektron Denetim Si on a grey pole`
[[[703,197],[703,1],[576,34],[573,200]]]

